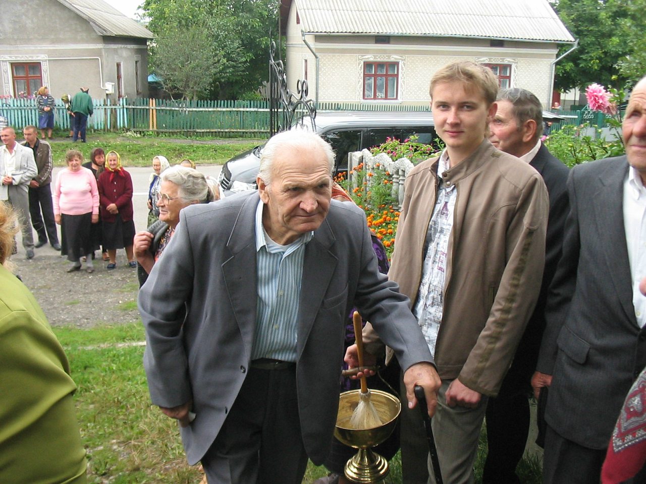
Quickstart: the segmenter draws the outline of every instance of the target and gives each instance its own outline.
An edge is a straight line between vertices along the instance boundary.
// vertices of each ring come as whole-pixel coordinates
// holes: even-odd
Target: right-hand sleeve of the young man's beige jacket
[[[542,177],[530,177],[506,230],[506,265],[485,327],[458,378],[495,396],[514,358],[541,288],[549,201]]]

